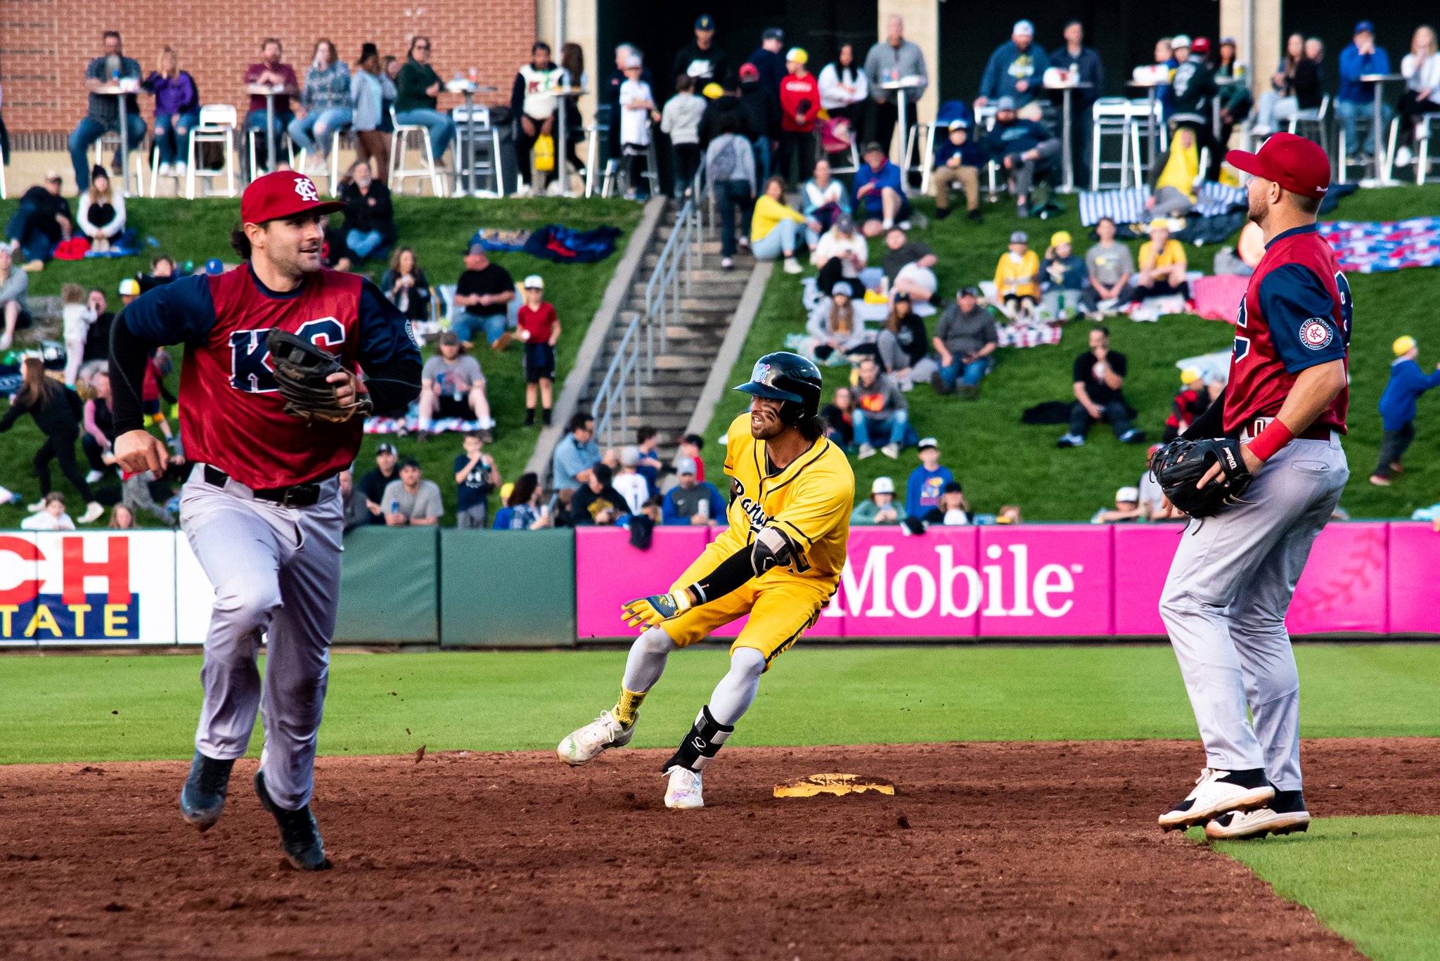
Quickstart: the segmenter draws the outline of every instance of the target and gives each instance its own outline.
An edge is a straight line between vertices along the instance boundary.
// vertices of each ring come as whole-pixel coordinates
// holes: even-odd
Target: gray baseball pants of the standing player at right
[[[1300,676],[1284,612],[1348,477],[1338,437],[1290,441],[1256,474],[1247,503],[1192,520],[1181,537],[1161,618],[1207,766],[1264,768],[1276,790],[1300,790]]]

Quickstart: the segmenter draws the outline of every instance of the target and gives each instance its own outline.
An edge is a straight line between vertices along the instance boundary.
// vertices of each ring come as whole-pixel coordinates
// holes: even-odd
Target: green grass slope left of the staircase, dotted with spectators
[[[13,199],[0,200],[0,219],[9,219],[16,205],[17,202]],[[145,238],[157,241],[156,246],[145,248],[145,256],[96,258],[78,262],[53,261],[43,271],[30,275],[30,294],[58,295],[62,284],[73,281],[86,288],[104,290],[111,310],[118,310],[120,297],[115,291],[120,281],[125,277],[134,277],[137,271],[148,271],[151,255],[168,254],[180,262],[194,261],[196,264],[203,264],[212,256],[219,256],[226,262],[238,259],[229,248],[230,229],[239,220],[240,202],[238,199],[137,199],[127,203],[127,210],[130,225],[135,228],[141,242]],[[556,356],[556,393],[559,393],[564,375],[575,363],[580,340],[585,339],[585,330],[600,305],[605,285],[624,255],[629,233],[639,222],[639,213],[641,206],[626,200],[549,197],[526,200],[396,197],[395,200],[395,225],[400,243],[415,248],[416,259],[431,284],[435,285],[455,282],[464,269],[465,242],[482,226],[537,228],[546,223],[563,223],[588,229],[613,225],[625,232],[616,243],[615,254],[599,264],[562,267],[527,254],[497,254],[494,256],[494,261],[510,271],[517,281],[527,274],[541,274],[546,278],[546,298],[554,304],[563,328]],[[366,264],[363,272],[379,281],[384,267],[379,262]],[[17,346],[29,343],[26,333],[22,333],[16,340]],[[433,347],[428,349],[426,356],[432,352]],[[173,353],[179,360],[179,349]],[[514,480],[534,451],[539,435],[539,428],[523,426],[524,372],[520,344],[511,344],[510,350],[503,354],[481,350],[478,359],[485,370],[490,403],[498,422],[495,442],[488,447],[488,451],[495,457],[505,480]],[[177,386],[179,365],[177,372],[170,377],[170,389],[174,390]],[[26,501],[39,497],[39,486],[30,474],[30,458],[40,442],[40,432],[29,418],[22,419],[9,434],[0,434],[0,464],[4,465],[4,470],[0,470],[0,484],[19,491]],[[374,465],[374,447],[379,442],[379,438],[366,438],[359,458],[361,470]],[[402,457],[415,457],[425,475],[439,484],[445,497],[446,524],[454,524],[455,477],[452,465],[461,450],[459,437],[441,437],[426,444],[419,444],[415,438],[399,438],[395,442],[400,448]],[[76,451],[78,454],[79,451]],[[59,474],[56,474],[56,481],[63,493],[73,497],[69,484]],[[71,513],[76,511],[72,509]],[[0,506],[0,529],[16,527],[22,517],[24,517],[23,507]],[[144,523],[144,519],[141,522]]]

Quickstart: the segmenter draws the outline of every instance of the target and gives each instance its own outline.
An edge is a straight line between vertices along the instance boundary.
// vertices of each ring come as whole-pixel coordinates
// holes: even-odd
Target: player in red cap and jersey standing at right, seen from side
[[[1293,134],[1274,134],[1254,154],[1231,150],[1227,160],[1250,174],[1250,219],[1266,251],[1240,304],[1225,392],[1185,437],[1238,438],[1254,480],[1241,503],[1191,522],[1161,596],[1205,769],[1159,823],[1205,824],[1212,839],[1309,827],[1300,680],[1284,612],[1349,477],[1341,437],[1351,291],[1315,225],[1329,160]],[[1197,486],[1221,473],[1217,464]]]

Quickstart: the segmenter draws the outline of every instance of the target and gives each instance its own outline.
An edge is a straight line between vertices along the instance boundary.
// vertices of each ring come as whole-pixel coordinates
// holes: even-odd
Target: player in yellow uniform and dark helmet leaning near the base
[[[825,439],[819,370],[792,353],[770,353],[736,390],[750,411],[730,424],[729,529],[671,585],[629,601],[622,615],[645,627],[631,647],[619,700],[560,742],[560,759],[585,764],[629,743],[641,702],[670,653],[750,615],[730,645],[730,670],[690,733],[665,762],[665,807],[704,807],[700,772],[755,700],[760,674],[819,618],[840,584],[855,477]]]

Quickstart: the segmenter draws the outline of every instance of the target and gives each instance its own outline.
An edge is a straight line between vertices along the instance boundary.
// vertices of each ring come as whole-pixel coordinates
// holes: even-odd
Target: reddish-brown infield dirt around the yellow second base
[[[282,866],[255,761],[206,834],[176,808],[186,762],[4,766],[0,957],[1359,957],[1156,828],[1198,743],[732,746],[703,811],[665,810],[667,754],[321,758],[320,875]],[[1440,814],[1440,739],[1303,759],[1316,815]],[[770,795],[816,772],[897,794]]]

